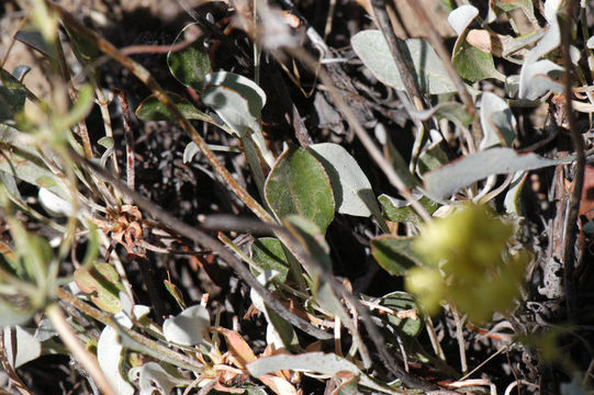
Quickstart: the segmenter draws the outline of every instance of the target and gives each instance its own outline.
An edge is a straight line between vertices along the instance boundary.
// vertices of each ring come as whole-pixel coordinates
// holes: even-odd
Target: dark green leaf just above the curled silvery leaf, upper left
[[[197,24],[191,23],[183,27],[176,37],[173,45],[183,42],[186,32],[194,26]],[[211,60],[202,40],[197,40],[181,50],[169,52],[167,54],[167,65],[178,81],[199,92],[202,91],[204,76],[211,72]]]

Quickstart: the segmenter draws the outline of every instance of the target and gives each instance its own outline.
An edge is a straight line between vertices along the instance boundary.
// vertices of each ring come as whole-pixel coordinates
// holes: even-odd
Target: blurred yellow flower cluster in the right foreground
[[[464,205],[428,224],[415,244],[426,266],[406,275],[407,291],[429,314],[451,301],[470,320],[482,323],[519,296],[530,259],[525,249],[509,252],[514,225],[486,206]]]

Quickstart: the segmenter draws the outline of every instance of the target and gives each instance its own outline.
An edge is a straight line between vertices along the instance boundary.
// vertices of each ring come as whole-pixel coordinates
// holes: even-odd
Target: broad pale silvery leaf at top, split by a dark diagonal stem
[[[384,84],[404,90],[390,47],[380,31],[368,30],[351,38],[352,49],[376,78]],[[439,56],[423,38],[410,38],[402,45],[405,60],[414,70],[414,77],[422,93],[440,94],[455,92],[456,87],[444,69]]]

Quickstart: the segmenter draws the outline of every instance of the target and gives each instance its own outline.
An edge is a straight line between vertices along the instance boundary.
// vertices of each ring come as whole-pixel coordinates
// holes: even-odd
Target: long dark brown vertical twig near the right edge
[[[584,182],[584,168],[585,168],[585,154],[584,154],[584,139],[578,131],[575,124],[575,114],[573,113],[573,106],[571,103],[571,70],[573,69],[573,63],[570,56],[571,45],[571,23],[572,14],[575,5],[574,0],[568,0],[565,3],[565,12],[560,15],[561,23],[561,49],[563,57],[563,66],[565,72],[563,75],[563,83],[565,86],[565,116],[569,123],[569,131],[571,134],[571,143],[573,150],[575,151],[575,176],[572,182],[572,193],[569,202],[569,213],[565,219],[565,237],[564,237],[564,253],[563,253],[563,280],[565,286],[565,303],[568,307],[568,316],[570,319],[575,318],[575,309],[578,307],[576,295],[576,279],[575,279],[575,225],[578,222],[578,213],[580,208],[580,200],[582,198],[582,189]]]

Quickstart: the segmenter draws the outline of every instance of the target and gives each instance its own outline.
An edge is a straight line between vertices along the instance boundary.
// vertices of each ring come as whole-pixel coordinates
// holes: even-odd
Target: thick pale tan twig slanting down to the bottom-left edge
[[[64,343],[72,352],[75,359],[80,362],[87,373],[90,374],[97,386],[101,390],[101,393],[107,395],[115,395],[115,391],[103,374],[101,368],[99,368],[97,359],[85,348],[85,346],[80,343],[75,331],[68,321],[66,321],[66,317],[64,316],[64,312],[59,305],[52,304],[47,306],[45,314],[52,321],[52,325],[58,332],[61,341],[64,341]]]

